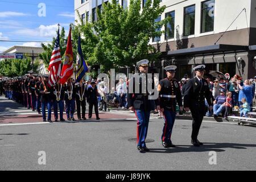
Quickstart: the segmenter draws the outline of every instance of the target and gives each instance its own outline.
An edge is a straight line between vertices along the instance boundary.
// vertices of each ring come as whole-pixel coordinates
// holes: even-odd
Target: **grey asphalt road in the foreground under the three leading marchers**
[[[256,127],[203,122],[199,140],[205,144],[193,147],[191,121],[176,120],[172,142],[177,147],[165,149],[160,143],[163,123],[163,119],[151,120],[147,136],[151,151],[146,153],[137,150],[135,120],[0,126],[0,170],[256,168]],[[217,164],[209,164],[209,159],[215,161],[209,155],[212,151]]]

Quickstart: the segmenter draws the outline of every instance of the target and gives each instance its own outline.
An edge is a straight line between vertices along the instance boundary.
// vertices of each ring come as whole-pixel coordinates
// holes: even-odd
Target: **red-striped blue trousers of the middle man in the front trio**
[[[163,118],[164,118],[164,127],[162,134],[162,142],[171,142],[172,128],[174,127],[176,112],[164,109]]]

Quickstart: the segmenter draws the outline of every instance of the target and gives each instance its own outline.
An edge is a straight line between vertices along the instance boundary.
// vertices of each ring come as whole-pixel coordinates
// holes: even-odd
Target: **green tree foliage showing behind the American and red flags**
[[[56,36],[57,36],[57,31],[56,31]],[[51,56],[52,56],[52,50],[55,44],[55,40],[56,37],[52,38],[52,43],[51,44],[43,44],[42,43],[42,48],[44,49],[43,53],[39,54],[39,58],[43,60],[44,65],[46,66],[46,68],[49,67],[49,61],[51,60]],[[65,29],[64,27],[61,28],[61,32],[60,32],[60,55],[62,58],[65,50],[66,50],[66,44],[65,44]]]

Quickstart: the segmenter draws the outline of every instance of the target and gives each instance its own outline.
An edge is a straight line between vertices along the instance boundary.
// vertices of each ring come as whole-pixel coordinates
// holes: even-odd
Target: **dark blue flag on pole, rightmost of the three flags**
[[[77,63],[76,82],[80,82],[82,80],[82,78],[85,76],[85,73],[88,71],[88,65],[85,62],[84,57],[82,56],[80,34],[79,34],[79,40],[77,43],[76,63]]]

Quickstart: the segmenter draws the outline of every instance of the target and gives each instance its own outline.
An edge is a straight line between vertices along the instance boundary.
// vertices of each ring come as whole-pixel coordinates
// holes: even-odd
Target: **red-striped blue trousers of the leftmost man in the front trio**
[[[144,110],[134,110],[135,115],[138,119],[137,122],[137,146],[142,148],[146,147],[146,137],[147,137],[147,129],[148,123],[150,119],[150,111]]]

